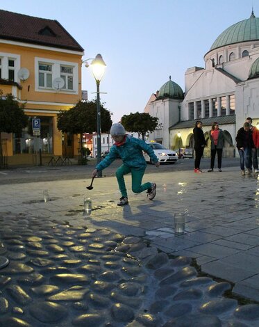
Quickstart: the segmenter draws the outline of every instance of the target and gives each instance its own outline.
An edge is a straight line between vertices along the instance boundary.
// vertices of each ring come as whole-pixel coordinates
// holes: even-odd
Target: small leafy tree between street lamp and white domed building
[[[147,132],[154,131],[158,126],[158,118],[152,117],[149,113],[130,113],[122,116],[122,125],[126,131],[141,134],[142,140],[144,140]]]

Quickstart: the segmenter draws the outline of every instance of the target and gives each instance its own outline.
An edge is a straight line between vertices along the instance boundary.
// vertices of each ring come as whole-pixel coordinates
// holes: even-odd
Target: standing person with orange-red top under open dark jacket
[[[224,134],[222,129],[219,128],[217,122],[213,122],[210,130],[210,169],[208,173],[214,170],[215,157],[217,153],[217,168],[222,172],[222,152],[224,147]]]

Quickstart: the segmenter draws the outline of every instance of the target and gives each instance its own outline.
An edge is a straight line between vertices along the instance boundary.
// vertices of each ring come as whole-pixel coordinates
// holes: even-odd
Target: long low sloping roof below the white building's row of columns
[[[219,125],[235,124],[235,115],[222,115],[221,117],[210,117],[210,118],[202,118],[196,120],[183,120],[182,122],[178,122],[176,125],[169,127],[169,129],[194,127],[195,122],[197,122],[197,120],[200,120],[203,126],[211,126],[213,122],[218,122]]]

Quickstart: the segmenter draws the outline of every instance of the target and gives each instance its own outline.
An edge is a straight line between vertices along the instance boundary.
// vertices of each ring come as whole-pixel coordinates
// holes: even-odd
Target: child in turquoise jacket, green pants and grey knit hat
[[[153,152],[153,149],[142,140],[126,135],[126,131],[119,122],[112,125],[110,134],[115,143],[110,148],[110,153],[101,161],[92,172],[92,177],[97,175],[98,170],[103,170],[108,167],[112,161],[118,157],[122,159],[123,164],[116,171],[117,182],[119,184],[119,191],[122,193],[122,198],[119,199],[117,205],[128,205],[128,194],[124,181],[124,175],[131,173],[132,191],[134,193],[141,193],[147,190],[149,200],[153,200],[156,196],[156,183],[142,184],[142,177],[147,167],[143,153],[147,152],[151,161],[159,166],[158,158]]]

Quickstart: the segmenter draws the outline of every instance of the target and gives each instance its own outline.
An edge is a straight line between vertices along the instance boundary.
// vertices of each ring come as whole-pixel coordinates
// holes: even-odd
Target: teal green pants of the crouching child
[[[131,168],[126,165],[120,166],[117,171],[116,171],[116,177],[117,177],[117,182],[119,184],[119,191],[121,191],[122,196],[125,196],[128,198],[127,195],[127,190],[126,190],[126,185],[124,181],[124,175],[127,175],[128,173],[131,173],[131,189],[133,193],[141,193],[147,189],[151,189],[152,184],[147,182],[144,184],[142,183],[142,177],[144,175],[146,168],[144,169],[136,169],[136,168]]]

